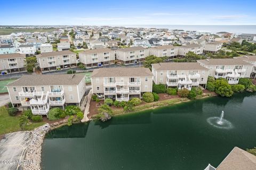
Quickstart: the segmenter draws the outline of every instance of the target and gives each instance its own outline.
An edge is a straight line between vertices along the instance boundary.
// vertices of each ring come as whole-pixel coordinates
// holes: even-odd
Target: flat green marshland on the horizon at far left
[[[0,35],[9,35],[11,33],[16,32],[52,32],[56,31],[55,28],[47,28],[47,29],[18,29],[18,28],[2,28],[0,29]]]

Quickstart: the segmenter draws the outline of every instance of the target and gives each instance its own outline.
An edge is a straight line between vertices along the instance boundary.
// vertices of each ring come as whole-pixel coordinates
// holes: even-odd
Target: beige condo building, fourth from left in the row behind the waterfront
[[[149,50],[144,47],[128,47],[116,50],[116,59],[123,64],[144,61],[148,55]]]

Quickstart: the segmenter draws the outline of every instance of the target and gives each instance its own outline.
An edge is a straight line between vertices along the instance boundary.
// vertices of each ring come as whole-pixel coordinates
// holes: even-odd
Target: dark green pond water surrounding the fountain
[[[207,122],[221,111],[231,124]],[[256,146],[256,95],[211,97],[106,123],[62,126],[46,135],[42,168],[203,170],[209,163],[218,166],[235,146]]]

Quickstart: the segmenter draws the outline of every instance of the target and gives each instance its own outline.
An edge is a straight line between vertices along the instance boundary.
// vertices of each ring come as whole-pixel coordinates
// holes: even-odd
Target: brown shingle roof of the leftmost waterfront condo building
[[[7,86],[78,85],[84,77],[82,74],[23,75]]]

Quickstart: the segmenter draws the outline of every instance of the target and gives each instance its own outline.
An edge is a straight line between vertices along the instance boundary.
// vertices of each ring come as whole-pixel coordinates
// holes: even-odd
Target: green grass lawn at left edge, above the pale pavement
[[[11,133],[21,131],[19,126],[19,116],[9,116],[5,106],[0,107],[0,135],[5,133]],[[31,123],[26,126],[26,130],[33,130],[39,126],[44,125],[45,122]]]

